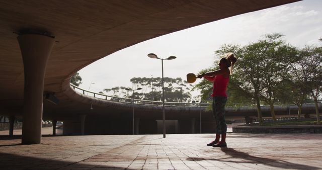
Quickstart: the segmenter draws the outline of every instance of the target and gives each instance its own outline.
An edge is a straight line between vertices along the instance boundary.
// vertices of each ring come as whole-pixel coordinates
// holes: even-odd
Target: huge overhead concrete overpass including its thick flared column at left
[[[1,0],[0,113],[23,117],[22,143],[41,143],[41,119],[82,122],[92,114],[67,95],[79,69],[154,37],[296,1]],[[44,94],[59,104],[43,101]]]

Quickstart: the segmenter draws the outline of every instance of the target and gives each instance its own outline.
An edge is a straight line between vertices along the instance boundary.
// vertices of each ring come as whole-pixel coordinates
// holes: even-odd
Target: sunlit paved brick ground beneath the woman
[[[0,169],[322,169],[321,134],[47,136],[42,144],[0,136]]]

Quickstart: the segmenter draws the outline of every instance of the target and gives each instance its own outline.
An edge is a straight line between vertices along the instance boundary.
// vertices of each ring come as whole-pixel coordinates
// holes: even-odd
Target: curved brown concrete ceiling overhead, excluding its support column
[[[21,114],[24,66],[15,33],[23,29],[55,36],[44,91],[54,92],[60,104],[45,102],[44,110],[61,112],[75,105],[64,94],[69,88],[64,82],[100,58],[154,37],[292,2],[297,0],[1,0],[0,114]]]

